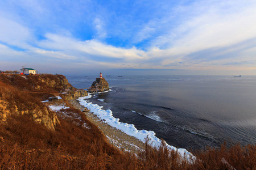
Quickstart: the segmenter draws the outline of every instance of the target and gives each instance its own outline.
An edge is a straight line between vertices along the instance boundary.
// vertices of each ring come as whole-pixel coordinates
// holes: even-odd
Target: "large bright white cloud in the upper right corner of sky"
[[[229,5],[228,14],[224,14],[224,5],[196,3],[189,6],[183,12],[189,14],[189,11],[193,10],[196,14],[188,16],[168,34],[156,38],[153,46],[162,47],[168,44],[170,48],[186,49],[189,53],[214,46],[233,45],[255,37],[256,3],[239,9]]]

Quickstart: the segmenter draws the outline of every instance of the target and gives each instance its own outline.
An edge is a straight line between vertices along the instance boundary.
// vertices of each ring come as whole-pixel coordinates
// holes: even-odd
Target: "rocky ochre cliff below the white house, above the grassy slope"
[[[86,91],[75,91],[63,75],[0,75],[0,123],[16,115],[27,115],[55,130],[60,125],[56,113],[43,100],[60,95],[63,99],[86,96]],[[69,92],[67,92],[69,91]],[[67,92],[67,94],[63,94]]]

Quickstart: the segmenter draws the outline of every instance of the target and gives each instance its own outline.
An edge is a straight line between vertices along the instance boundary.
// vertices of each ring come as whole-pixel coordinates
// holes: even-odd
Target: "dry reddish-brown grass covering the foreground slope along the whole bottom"
[[[195,154],[195,163],[188,163],[164,142],[155,148],[148,141],[135,156],[110,146],[89,122],[88,130],[69,118],[60,121],[54,132],[27,116],[9,119],[0,128],[0,169],[255,169],[254,145],[208,148]]]

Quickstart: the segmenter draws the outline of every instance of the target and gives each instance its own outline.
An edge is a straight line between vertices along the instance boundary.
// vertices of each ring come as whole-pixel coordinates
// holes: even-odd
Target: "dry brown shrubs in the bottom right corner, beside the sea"
[[[196,152],[198,169],[256,169],[256,146],[241,146],[240,143],[228,148],[226,143],[220,148],[208,147]]]

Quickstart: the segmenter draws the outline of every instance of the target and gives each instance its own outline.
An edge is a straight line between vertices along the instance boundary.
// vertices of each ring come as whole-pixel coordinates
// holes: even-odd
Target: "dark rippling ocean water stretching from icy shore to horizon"
[[[112,91],[88,99],[120,122],[187,150],[256,143],[256,76],[105,76]],[[96,76],[67,76],[77,88]]]

